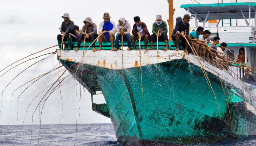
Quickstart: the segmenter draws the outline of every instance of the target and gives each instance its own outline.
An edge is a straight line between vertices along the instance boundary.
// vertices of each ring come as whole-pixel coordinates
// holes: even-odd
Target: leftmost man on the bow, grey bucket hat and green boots
[[[61,24],[61,27],[60,27],[60,32],[62,35],[58,35],[57,36],[57,40],[58,40],[58,43],[60,44],[61,41],[62,41],[62,37],[64,37],[63,39],[63,42],[67,41],[68,38],[72,38],[72,41],[73,42],[76,42],[76,38],[73,37],[72,35],[76,36],[76,30],[75,30],[75,24],[73,21],[69,20],[69,14],[68,13],[64,13],[63,16],[61,16],[64,21],[62,22]],[[70,35],[72,34],[72,35]],[[67,49],[68,47],[68,44],[64,43],[64,49]]]

